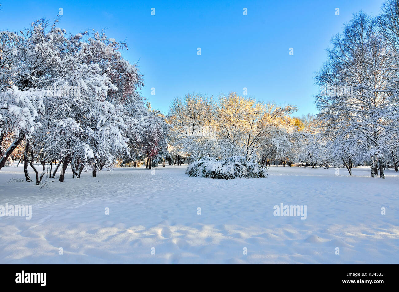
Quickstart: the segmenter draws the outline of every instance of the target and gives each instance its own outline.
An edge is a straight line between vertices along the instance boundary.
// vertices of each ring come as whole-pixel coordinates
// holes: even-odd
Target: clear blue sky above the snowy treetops
[[[155,109],[167,113],[170,101],[188,91],[216,97],[247,87],[248,95],[297,105],[295,115],[302,115],[315,113],[314,72],[331,37],[354,12],[379,14],[382,2],[0,0],[0,30],[19,31],[43,16],[52,20],[63,8],[59,27],[67,32],[108,28],[108,37],[126,39],[129,50],[122,54],[131,63],[140,59],[142,95]]]

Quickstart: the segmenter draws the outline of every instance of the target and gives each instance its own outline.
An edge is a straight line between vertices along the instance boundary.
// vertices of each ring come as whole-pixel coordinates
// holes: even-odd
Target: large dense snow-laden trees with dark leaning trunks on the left
[[[43,163],[58,161],[51,176],[62,164],[62,182],[69,164],[79,178],[84,167],[95,176],[130,157],[129,146],[159,121],[139,94],[138,69],[120,53],[125,43],[104,32],[67,35],[58,21],[40,19],[18,34],[0,33],[0,134],[14,137],[7,149],[1,140],[0,168],[25,140],[24,156],[36,174],[38,156]]]

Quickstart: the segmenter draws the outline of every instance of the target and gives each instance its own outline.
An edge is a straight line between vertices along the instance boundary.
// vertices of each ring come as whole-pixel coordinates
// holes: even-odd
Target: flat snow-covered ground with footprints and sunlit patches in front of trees
[[[103,170],[40,190],[10,181],[24,178],[21,166],[3,168],[0,205],[32,205],[32,219],[0,217],[0,263],[399,263],[393,170],[384,181],[369,168],[349,177],[343,168],[337,176],[279,166],[251,180],[191,178],[185,169]],[[306,205],[306,220],[275,217],[280,203]]]

